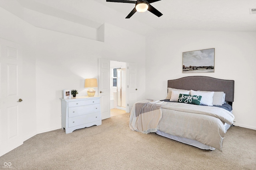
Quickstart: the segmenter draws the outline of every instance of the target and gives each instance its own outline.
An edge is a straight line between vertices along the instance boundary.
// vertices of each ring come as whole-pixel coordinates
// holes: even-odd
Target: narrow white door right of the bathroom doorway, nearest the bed
[[[132,109],[132,106],[135,102],[137,102],[137,83],[136,83],[136,74],[137,74],[137,68],[136,63],[128,63],[127,67],[128,72],[128,87],[126,88],[126,92],[128,92],[128,95],[126,97],[128,102],[128,107],[126,112],[130,112]]]

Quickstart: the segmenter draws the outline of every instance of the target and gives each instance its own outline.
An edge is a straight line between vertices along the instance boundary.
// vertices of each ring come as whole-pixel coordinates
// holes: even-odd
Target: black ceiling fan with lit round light
[[[157,2],[160,0],[106,0],[106,2],[122,2],[122,3],[130,3],[135,4],[135,8],[128,14],[126,18],[131,18],[131,16],[136,12],[146,12],[147,10],[151,12],[152,14],[155,14],[156,16],[160,17],[163,14],[159,12],[156,8],[154,8],[150,3]]]

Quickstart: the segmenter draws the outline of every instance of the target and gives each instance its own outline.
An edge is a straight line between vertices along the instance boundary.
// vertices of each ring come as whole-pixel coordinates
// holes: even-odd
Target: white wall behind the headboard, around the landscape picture
[[[182,52],[215,48],[214,73],[182,73]],[[167,80],[211,76],[235,80],[234,125],[256,129],[256,32],[161,31],[146,38],[146,98],[164,99]]]

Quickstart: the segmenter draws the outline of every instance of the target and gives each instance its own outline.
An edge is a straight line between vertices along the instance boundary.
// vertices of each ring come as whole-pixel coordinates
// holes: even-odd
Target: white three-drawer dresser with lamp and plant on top
[[[61,126],[66,133],[101,125],[100,96],[61,99]]]

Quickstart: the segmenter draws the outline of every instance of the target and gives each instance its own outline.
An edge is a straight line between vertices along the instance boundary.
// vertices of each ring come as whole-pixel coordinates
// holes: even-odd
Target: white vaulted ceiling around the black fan
[[[0,0],[3,1],[3,0]],[[17,0],[25,9],[98,28],[110,23],[147,34],[156,30],[256,31],[256,0],[161,0],[151,5],[163,16],[136,12],[134,4],[106,0]],[[31,16],[32,17],[32,16]]]

